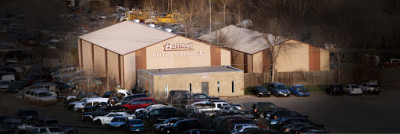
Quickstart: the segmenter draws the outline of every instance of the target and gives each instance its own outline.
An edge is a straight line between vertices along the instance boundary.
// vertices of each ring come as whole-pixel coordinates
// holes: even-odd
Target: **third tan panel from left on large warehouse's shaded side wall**
[[[107,65],[107,77],[121,82],[119,80],[118,54],[107,50]]]

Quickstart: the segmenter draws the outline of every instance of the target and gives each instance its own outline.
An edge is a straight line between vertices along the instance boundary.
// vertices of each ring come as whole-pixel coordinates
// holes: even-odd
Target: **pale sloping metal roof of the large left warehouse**
[[[79,38],[125,55],[177,35],[131,21],[124,21]]]

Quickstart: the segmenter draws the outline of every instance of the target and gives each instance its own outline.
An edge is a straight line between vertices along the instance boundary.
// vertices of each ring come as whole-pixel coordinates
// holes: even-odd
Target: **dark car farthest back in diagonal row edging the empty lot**
[[[251,108],[252,112],[254,112],[253,114],[256,117],[264,118],[266,113],[271,112],[277,109],[278,107],[271,102],[257,102],[253,104]]]

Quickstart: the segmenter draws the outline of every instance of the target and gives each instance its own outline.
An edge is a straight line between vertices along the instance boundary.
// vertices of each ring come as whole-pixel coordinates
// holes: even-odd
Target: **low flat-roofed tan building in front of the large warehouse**
[[[188,67],[138,70],[140,89],[166,100],[170,90],[187,90],[209,96],[244,95],[244,73],[231,66]]]

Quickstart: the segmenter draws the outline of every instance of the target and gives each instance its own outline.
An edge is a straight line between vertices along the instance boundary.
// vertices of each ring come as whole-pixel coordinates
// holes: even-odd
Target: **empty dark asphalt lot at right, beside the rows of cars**
[[[389,90],[379,95],[328,96],[314,93],[310,97],[245,96],[227,99],[246,109],[258,101],[268,101],[279,107],[309,115],[311,120],[325,124],[334,133],[395,133],[400,132],[400,91]]]

